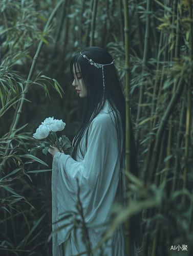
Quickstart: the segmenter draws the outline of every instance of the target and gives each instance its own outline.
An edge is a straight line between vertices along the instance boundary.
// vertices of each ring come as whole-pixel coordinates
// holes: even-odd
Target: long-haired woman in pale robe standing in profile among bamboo
[[[89,47],[71,60],[72,85],[81,98],[85,98],[82,124],[74,140],[72,156],[50,146],[53,158],[52,202],[53,222],[65,212],[77,212],[76,203],[82,205],[84,221],[93,224],[88,237],[91,249],[100,241],[110,220],[110,208],[114,202],[124,205],[124,157],[125,157],[125,100],[110,53],[99,47]],[[133,132],[131,135],[133,173],[138,175]],[[77,184],[78,183],[78,184]],[[78,190],[79,189],[79,190]],[[132,233],[132,256],[137,255],[138,221]],[[133,222],[132,222],[133,223]],[[83,242],[82,230],[77,229],[77,240],[68,219],[53,225],[53,230],[65,226],[53,237],[53,256],[62,255],[62,243],[66,242],[65,255],[71,256],[88,250]],[[133,224],[132,224],[133,225]],[[134,226],[134,225],[133,225]],[[125,255],[124,224],[103,246],[108,256]],[[96,255],[99,255],[97,251]],[[88,255],[88,254],[82,254]]]

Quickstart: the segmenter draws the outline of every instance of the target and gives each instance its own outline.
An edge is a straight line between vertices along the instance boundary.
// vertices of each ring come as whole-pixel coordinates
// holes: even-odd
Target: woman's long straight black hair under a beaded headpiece
[[[88,47],[81,51],[82,55],[92,59],[95,63],[110,64],[113,61],[111,54],[100,47]],[[122,89],[119,83],[115,65],[103,66],[105,89],[103,92],[103,77],[102,69],[92,66],[88,59],[84,58],[80,53],[73,56],[70,63],[71,75],[74,77],[74,69],[81,73],[81,77],[85,88],[87,89],[87,97],[85,98],[85,110],[83,115],[83,121],[81,126],[75,135],[73,146],[74,151],[72,157],[76,160],[77,150],[79,148],[82,157],[84,152],[79,147],[82,136],[85,134],[85,152],[87,151],[88,143],[88,127],[93,119],[100,113],[105,104],[105,100],[108,100],[111,108],[114,110],[114,119],[118,138],[119,160],[120,168],[124,167],[125,158],[125,99],[122,93]],[[121,121],[120,121],[121,120]],[[123,137],[123,138],[122,138]],[[131,170],[132,173],[138,176],[138,163],[137,152],[135,146],[135,139],[133,131],[131,129]],[[136,218],[134,218],[136,219]],[[133,222],[133,221],[132,221]],[[132,231],[134,239],[138,244],[139,232],[138,218],[134,221]],[[131,223],[132,224],[132,223]],[[135,235],[136,234],[136,235]]]

